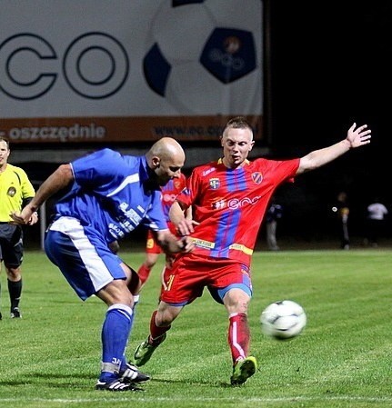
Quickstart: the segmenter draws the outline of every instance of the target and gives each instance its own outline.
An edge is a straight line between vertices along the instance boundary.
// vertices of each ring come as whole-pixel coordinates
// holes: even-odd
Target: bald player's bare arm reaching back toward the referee
[[[72,173],[70,164],[60,165],[55,173],[49,175],[43,184],[38,188],[35,197],[26,204],[21,212],[15,211],[11,214],[15,224],[28,224],[33,213],[38,207],[53,194],[65,188],[68,184],[74,182],[74,174]]]

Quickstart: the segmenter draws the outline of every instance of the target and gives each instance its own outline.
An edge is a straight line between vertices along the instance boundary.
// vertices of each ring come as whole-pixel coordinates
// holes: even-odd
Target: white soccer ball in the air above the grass
[[[278,301],[266,306],[261,313],[260,323],[266,335],[279,340],[292,339],[304,330],[307,314],[296,302]]]

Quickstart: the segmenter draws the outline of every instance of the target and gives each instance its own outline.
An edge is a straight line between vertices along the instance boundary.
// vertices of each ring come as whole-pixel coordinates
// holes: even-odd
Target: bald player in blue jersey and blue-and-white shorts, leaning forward
[[[185,159],[170,137],[159,139],[143,156],[103,149],[60,165],[22,212],[12,214],[16,223],[27,224],[41,204],[67,189],[55,204],[45,253],[82,300],[95,294],[108,307],[95,389],[138,391],[137,383],[149,380],[125,355],[135,305],[130,287],[137,275],[112,249],[139,224],[155,232],[167,253],[193,249],[189,238],[169,231],[161,204],[161,187],[180,176]]]

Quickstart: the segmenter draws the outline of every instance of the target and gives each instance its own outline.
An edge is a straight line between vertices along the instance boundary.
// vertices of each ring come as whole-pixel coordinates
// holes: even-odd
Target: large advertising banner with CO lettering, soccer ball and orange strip
[[[260,0],[4,0],[0,27],[12,144],[262,138]]]

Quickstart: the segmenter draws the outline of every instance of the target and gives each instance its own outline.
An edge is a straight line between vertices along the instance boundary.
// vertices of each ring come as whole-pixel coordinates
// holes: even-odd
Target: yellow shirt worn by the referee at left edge
[[[0,173],[0,222],[12,221],[10,213],[20,211],[26,198],[35,196],[33,184],[25,170],[12,164],[6,164],[5,171]]]

